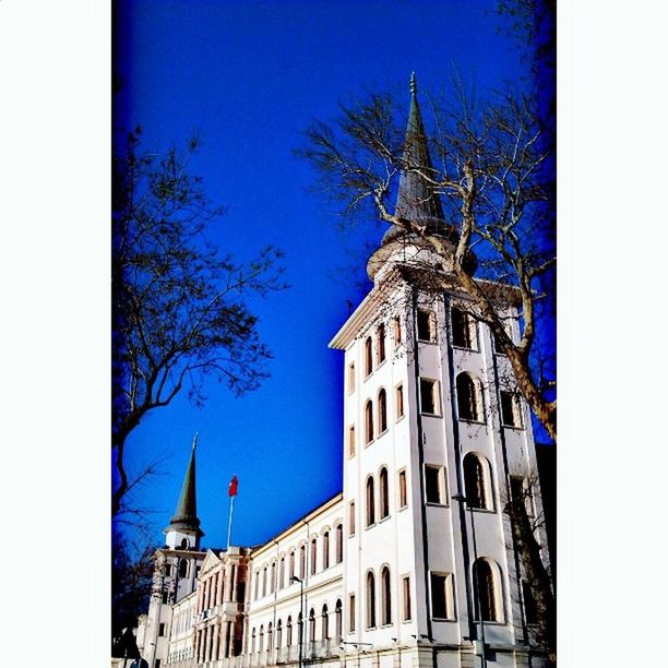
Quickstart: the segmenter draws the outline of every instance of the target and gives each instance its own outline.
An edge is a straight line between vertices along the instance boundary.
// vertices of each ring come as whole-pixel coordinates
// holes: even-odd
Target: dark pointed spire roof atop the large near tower
[[[415,72],[410,75],[410,110],[404,144],[404,162],[408,166],[419,166],[424,171],[433,170],[417,102]],[[441,201],[434,193],[433,186],[415,171],[402,171],[401,174],[395,213],[397,216],[419,223],[443,222]]]

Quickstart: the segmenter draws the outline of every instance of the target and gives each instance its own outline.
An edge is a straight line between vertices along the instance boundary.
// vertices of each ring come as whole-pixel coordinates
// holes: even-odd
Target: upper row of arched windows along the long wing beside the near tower
[[[338,564],[343,561],[343,524],[336,525],[334,528],[335,534],[335,546],[334,546],[334,564]],[[331,548],[330,548],[330,532],[325,530],[321,537],[322,542],[322,564],[321,570],[324,571],[332,565]],[[298,561],[297,561],[298,560]],[[318,572],[318,538],[312,538],[310,541],[310,574],[314,575]],[[293,578],[297,575],[297,565],[299,565],[300,580],[303,580],[307,575],[307,546],[302,545],[299,550],[291,550],[287,556],[287,569],[286,569],[286,557],[282,557],[278,561],[272,562],[271,565],[265,565],[262,570],[255,571],[255,588],[254,588],[254,600],[273,594],[276,587],[283,589],[293,583]],[[278,575],[276,576],[276,569],[278,569]],[[261,586],[262,585],[262,586]]]

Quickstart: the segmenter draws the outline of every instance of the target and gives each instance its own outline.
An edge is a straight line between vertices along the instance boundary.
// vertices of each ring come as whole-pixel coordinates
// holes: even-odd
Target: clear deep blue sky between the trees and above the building
[[[362,295],[347,239],[307,192],[310,166],[294,157],[300,131],[330,119],[365,90],[438,91],[453,67],[479,88],[523,73],[500,34],[494,2],[119,1],[118,127],[141,124],[144,145],[165,148],[193,131],[204,144],[194,171],[225,203],[224,250],[250,258],[273,243],[286,252],[291,288],[253,302],[275,358],[261,390],[234,398],[208,390],[198,409],[184,396],[132,434],[138,470],[165,456],[164,475],[134,502],[156,512],[154,537],[175,510],[195,431],[198,510],[204,545],[225,544],[232,474],[239,478],[232,541],[264,541],[342,486],[342,354],[327,343]]]

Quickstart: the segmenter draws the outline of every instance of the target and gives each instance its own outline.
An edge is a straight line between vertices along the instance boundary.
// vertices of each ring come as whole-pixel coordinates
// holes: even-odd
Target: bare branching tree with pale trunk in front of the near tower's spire
[[[554,365],[545,359],[553,358],[553,342],[537,345],[554,302],[551,143],[544,141],[535,100],[526,95],[500,94],[478,105],[455,83],[446,99],[430,106],[432,131],[426,131],[426,141],[432,165],[405,150],[406,118],[384,93],[342,105],[331,123],[313,122],[298,153],[311,162],[320,191],[342,218],[380,218],[419,235],[446,260],[456,285],[473,298],[475,317],[506,355],[518,391],[556,439]],[[457,231],[454,244],[452,237],[394,211],[402,172],[419,175],[432,196],[440,196],[446,223]],[[475,277],[472,252],[478,260]],[[504,291],[480,279],[515,288],[518,342],[500,315]]]

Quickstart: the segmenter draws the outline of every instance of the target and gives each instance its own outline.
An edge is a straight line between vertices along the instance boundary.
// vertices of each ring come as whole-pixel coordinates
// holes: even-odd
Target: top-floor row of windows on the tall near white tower
[[[478,330],[475,318],[468,312],[457,307],[451,308],[452,345],[456,348],[466,350],[478,349]],[[395,348],[402,344],[402,324],[398,318],[392,320],[393,339]],[[432,311],[419,309],[417,312],[417,337],[422,343],[436,343],[437,327],[436,318]],[[373,338],[375,338],[375,356],[373,355]],[[502,354],[502,348],[496,336],[494,350]],[[381,323],[375,330],[374,336],[367,336],[365,339],[363,367],[365,379],[371,375],[374,368],[385,361],[385,325]],[[348,392],[355,391],[355,362],[348,366]]]

